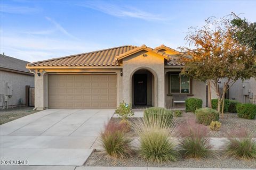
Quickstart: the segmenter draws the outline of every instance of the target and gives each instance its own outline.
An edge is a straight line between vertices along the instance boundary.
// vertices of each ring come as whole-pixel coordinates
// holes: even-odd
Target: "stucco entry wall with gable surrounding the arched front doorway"
[[[143,56],[146,54],[147,56]],[[164,58],[153,52],[141,51],[123,59],[123,99],[132,103],[132,75],[147,69],[154,75],[154,105],[165,107]]]

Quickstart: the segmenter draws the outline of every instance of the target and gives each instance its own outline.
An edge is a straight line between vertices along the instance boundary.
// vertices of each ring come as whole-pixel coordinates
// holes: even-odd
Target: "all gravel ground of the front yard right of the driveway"
[[[119,118],[111,118],[110,123],[120,123]],[[134,124],[143,120],[142,117],[129,118],[129,122]],[[188,120],[195,120],[195,114],[192,112],[182,112],[181,117],[174,118],[174,122],[179,125],[185,125]],[[235,113],[225,113],[223,119],[219,119],[222,123],[219,131],[211,131],[207,137],[209,138],[227,138],[231,133],[238,129],[247,129],[253,138],[256,137],[256,121],[239,118]],[[198,123],[196,123],[198,124]],[[200,124],[202,125],[202,124]],[[204,126],[205,129],[209,129],[208,126]],[[127,132],[133,139],[140,138],[135,132],[134,126]],[[134,142],[135,141],[135,142]],[[166,162],[154,162],[143,158],[140,155],[139,141],[134,140],[133,147],[135,152],[129,157],[116,158],[107,154],[103,150],[95,150],[91,156],[87,159],[85,166],[126,166],[126,167],[191,167],[191,168],[255,168],[256,162],[252,159],[237,158],[227,156],[222,149],[212,148],[211,154],[202,158],[193,158],[190,156],[179,156],[177,161]],[[139,143],[138,143],[139,142]],[[154,141],[153,141],[154,143]],[[117,144],[118,145],[118,144]]]

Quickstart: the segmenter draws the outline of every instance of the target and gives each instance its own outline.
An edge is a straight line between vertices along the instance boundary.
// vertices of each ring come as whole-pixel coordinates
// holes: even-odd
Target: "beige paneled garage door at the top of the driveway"
[[[49,75],[49,108],[116,108],[116,75]]]

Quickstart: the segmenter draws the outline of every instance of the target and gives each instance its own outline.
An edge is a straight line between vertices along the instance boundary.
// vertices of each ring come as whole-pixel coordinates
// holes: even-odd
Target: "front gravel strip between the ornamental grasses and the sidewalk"
[[[222,156],[221,156],[222,155]],[[191,167],[191,168],[256,168],[256,162],[241,160],[223,156],[221,152],[216,156],[205,159],[181,159],[178,162],[150,163],[141,159],[138,155],[132,158],[116,159],[108,156],[105,152],[95,151],[87,159],[85,166],[147,166],[147,167]]]

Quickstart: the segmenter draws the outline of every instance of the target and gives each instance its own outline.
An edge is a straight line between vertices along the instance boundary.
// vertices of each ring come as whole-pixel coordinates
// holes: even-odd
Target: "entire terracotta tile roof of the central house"
[[[171,49],[164,45],[159,47]],[[159,49],[159,47],[157,48]],[[153,49],[146,45],[142,45],[141,47],[127,45],[29,63],[27,66],[119,66],[119,60],[137,53],[140,50],[152,51],[162,55],[167,60],[167,65],[183,65],[177,60],[177,58],[184,57],[181,53],[177,55],[168,55],[164,52],[159,52],[156,48]]]

